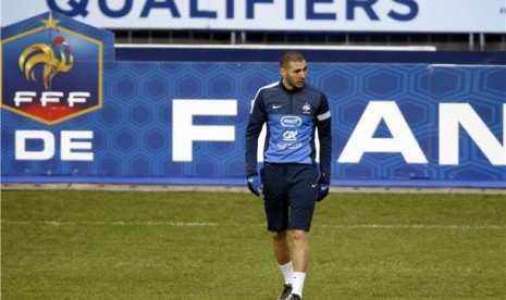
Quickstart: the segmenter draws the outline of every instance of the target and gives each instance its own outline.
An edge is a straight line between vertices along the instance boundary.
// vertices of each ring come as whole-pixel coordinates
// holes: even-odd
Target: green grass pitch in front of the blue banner
[[[275,299],[244,192],[2,191],[2,299]],[[505,299],[504,195],[331,193],[305,299]]]

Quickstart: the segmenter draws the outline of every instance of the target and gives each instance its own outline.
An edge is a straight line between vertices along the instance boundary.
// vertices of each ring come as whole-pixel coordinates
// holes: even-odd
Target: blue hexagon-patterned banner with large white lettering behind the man
[[[251,100],[277,63],[116,62],[109,36],[41,18],[2,30],[2,179],[243,180]],[[44,49],[53,59],[37,65]],[[506,66],[309,62],[308,74],[330,100],[333,183],[506,182]]]

